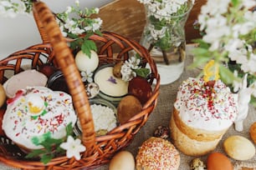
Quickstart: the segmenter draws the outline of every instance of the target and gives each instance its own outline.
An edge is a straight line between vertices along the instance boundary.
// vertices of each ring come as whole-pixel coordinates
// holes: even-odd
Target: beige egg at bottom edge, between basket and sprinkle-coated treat
[[[134,170],[135,160],[128,151],[120,151],[110,161],[110,170]]]

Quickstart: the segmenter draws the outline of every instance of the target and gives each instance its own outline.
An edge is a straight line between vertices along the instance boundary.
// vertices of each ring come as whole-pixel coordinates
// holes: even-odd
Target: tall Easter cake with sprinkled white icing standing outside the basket
[[[188,78],[177,92],[170,121],[175,146],[199,157],[212,152],[237,117],[237,102],[220,80]]]

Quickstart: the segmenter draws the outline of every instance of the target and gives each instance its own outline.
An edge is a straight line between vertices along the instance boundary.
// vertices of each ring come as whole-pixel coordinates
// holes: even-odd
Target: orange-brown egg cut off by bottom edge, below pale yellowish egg
[[[223,153],[210,153],[207,157],[207,170],[233,170],[233,164]]]

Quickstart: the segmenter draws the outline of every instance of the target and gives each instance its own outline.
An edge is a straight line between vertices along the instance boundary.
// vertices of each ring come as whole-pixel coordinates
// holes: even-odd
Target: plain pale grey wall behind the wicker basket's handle
[[[59,13],[74,0],[42,0],[55,12]],[[102,7],[114,0],[80,0],[81,7]],[[33,15],[20,15],[16,18],[0,16],[0,60],[9,54],[41,42]]]

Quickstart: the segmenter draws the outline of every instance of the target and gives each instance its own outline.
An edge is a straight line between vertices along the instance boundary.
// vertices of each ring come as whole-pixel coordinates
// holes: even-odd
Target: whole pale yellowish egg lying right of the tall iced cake
[[[228,137],[223,143],[223,148],[229,157],[240,161],[253,158],[255,154],[253,143],[238,135]]]

